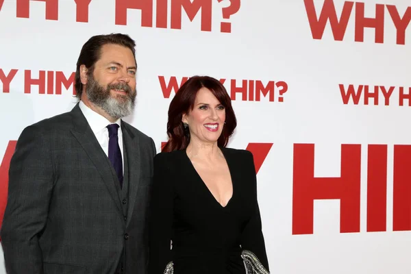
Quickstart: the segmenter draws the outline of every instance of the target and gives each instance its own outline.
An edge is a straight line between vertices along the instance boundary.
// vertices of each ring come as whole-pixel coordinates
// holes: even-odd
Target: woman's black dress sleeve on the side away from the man
[[[242,259],[245,262],[247,274],[269,274],[269,262],[266,256],[266,248],[264,236],[262,234],[262,223],[260,216],[260,208],[257,199],[257,177],[254,167],[253,155],[247,151],[247,166],[250,166],[250,171],[253,177],[251,188],[251,204],[253,205],[253,213],[241,236]]]

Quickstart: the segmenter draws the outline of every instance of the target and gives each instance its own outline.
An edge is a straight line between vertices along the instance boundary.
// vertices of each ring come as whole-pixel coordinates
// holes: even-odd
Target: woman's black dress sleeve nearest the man
[[[153,169],[149,216],[149,274],[171,274],[174,190],[171,166],[163,153],[155,156]]]

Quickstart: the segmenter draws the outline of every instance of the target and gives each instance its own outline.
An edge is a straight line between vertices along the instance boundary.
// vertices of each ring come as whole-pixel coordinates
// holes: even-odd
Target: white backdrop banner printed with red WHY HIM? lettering
[[[71,110],[82,45],[121,32],[125,120],[158,151],[188,77],[227,88],[271,273],[411,273],[410,21],[406,0],[0,0],[0,220],[23,128]]]

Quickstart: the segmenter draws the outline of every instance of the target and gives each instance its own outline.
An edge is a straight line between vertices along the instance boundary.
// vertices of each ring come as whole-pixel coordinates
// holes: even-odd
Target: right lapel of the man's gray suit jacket
[[[141,157],[140,157],[140,144],[134,134],[129,131],[127,124],[121,121],[121,128],[123,130],[124,147],[127,151],[128,173],[129,173],[129,206],[127,209],[127,223],[126,227],[132,219],[131,216],[134,210],[134,203],[136,203],[136,197],[138,192],[138,186],[140,184],[140,170],[141,170]]]

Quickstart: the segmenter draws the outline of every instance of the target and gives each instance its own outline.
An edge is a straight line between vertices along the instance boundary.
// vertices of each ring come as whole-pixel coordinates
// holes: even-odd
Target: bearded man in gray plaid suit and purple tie
[[[90,38],[79,103],[18,138],[1,227],[8,274],[146,273],[156,151],[121,120],[136,98],[134,47],[123,34]]]

